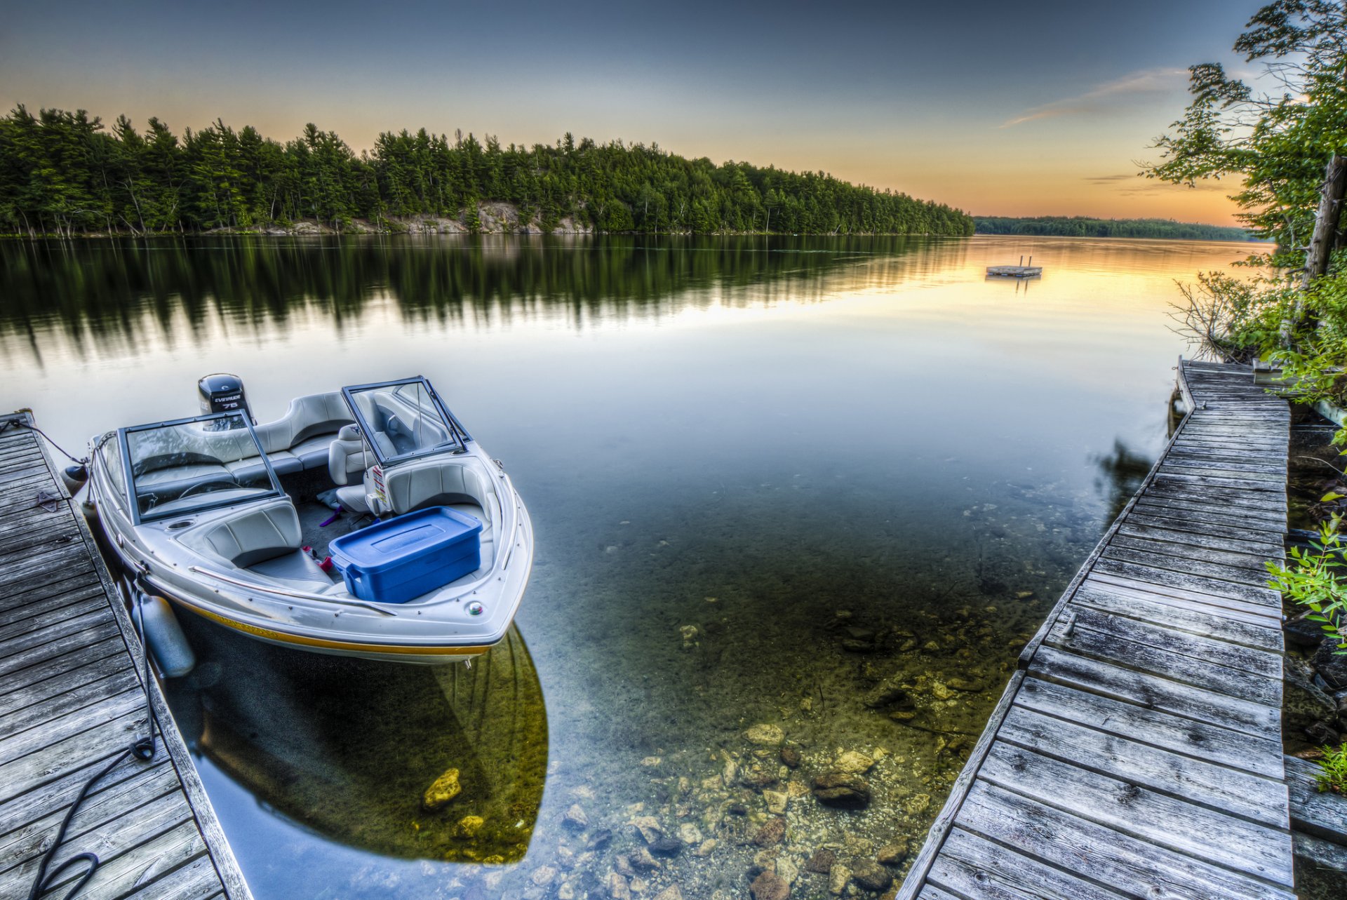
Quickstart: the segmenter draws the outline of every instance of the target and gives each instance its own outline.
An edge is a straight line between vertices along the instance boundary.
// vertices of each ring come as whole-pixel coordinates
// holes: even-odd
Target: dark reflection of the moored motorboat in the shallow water
[[[543,802],[547,713],[516,626],[469,668],[296,653],[183,625],[201,663],[170,682],[174,715],[193,752],[263,808],[384,856],[524,858]],[[447,769],[461,792],[428,811],[426,791]]]

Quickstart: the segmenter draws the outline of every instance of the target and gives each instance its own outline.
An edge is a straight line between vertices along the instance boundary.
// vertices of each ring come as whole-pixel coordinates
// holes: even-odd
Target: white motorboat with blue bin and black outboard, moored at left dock
[[[426,379],[296,397],[265,424],[234,376],[198,387],[205,415],[90,443],[98,521],[140,591],[321,653],[439,664],[505,637],[528,512]]]

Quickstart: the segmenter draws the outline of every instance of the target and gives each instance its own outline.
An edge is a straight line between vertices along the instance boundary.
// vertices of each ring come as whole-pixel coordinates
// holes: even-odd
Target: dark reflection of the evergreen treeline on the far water
[[[537,306],[577,327],[637,315],[674,296],[761,286],[758,300],[819,299],[820,279],[858,260],[892,264],[921,247],[921,268],[956,263],[966,241],[909,237],[182,238],[0,243],[0,334],[58,327],[78,348],[117,338],[135,346],[156,325],[201,337],[207,319],[284,323],[319,310],[341,330],[392,299],[404,319],[509,323]],[[936,253],[931,253],[936,248]],[[920,272],[915,272],[920,274]],[[876,271],[882,283],[890,272]],[[687,298],[683,296],[686,300]]]

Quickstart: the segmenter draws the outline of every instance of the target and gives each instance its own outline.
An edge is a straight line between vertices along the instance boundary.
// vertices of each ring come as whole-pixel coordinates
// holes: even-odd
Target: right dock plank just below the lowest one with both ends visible
[[[1129,897],[1293,897],[1288,891],[1156,846],[986,781],[978,781],[968,792],[959,825],[1049,865],[1111,885]]]

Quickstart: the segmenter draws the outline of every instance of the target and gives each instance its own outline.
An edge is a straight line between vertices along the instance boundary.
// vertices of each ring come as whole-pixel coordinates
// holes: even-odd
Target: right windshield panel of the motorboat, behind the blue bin
[[[467,441],[426,379],[361,384],[342,395],[383,463],[458,453]]]

